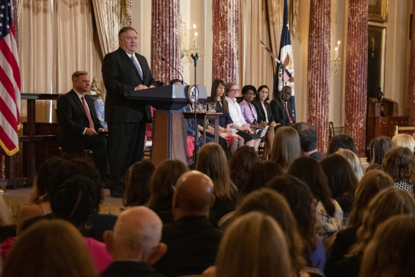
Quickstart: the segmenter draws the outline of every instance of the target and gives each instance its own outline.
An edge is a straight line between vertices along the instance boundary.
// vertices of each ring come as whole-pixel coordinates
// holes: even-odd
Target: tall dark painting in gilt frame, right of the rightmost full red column
[[[384,92],[386,27],[369,25],[367,47],[367,97]]]

